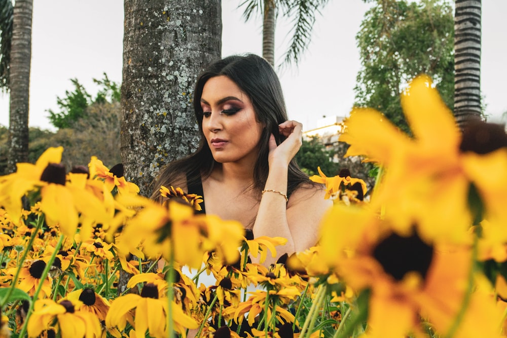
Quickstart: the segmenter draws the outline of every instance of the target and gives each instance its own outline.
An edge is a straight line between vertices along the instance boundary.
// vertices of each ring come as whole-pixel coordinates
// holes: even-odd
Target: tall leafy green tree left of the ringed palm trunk
[[[448,0],[376,0],[356,35],[361,58],[356,106],[375,108],[408,131],[400,93],[425,73],[454,106],[454,19]]]

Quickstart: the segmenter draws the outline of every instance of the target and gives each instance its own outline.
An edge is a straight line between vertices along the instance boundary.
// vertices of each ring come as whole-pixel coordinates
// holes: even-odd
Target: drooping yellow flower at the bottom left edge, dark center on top
[[[92,313],[79,311],[81,304],[67,299],[59,303],[50,299],[36,301],[28,319],[28,336],[39,336],[43,330],[50,329],[56,319],[62,337],[99,337],[101,328],[98,319]]]

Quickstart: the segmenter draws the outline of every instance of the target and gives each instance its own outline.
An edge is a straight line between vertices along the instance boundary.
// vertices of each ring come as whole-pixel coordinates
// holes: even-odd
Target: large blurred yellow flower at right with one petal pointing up
[[[461,133],[452,112],[426,76],[410,83],[401,102],[413,137],[374,109],[354,109],[340,137],[350,144],[346,156],[363,155],[385,168],[371,202],[397,232],[408,234],[417,224],[425,239],[464,243],[472,222],[469,180],[463,175]],[[428,210],[435,216],[426,217]]]

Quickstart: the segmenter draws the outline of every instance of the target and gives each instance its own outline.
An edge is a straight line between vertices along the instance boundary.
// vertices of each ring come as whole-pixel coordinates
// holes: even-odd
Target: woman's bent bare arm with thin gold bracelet
[[[302,125],[286,121],[279,126],[280,133],[287,138],[278,146],[273,135],[269,142],[269,174],[265,193],[261,198],[259,212],[253,224],[256,237],[284,237],[287,244],[277,248],[277,257],[268,257],[266,265],[276,261],[284,253],[303,251],[317,242],[320,219],[332,202],[324,200],[325,191],[308,183],[299,187],[286,202],[287,168],[289,162],[301,147]]]

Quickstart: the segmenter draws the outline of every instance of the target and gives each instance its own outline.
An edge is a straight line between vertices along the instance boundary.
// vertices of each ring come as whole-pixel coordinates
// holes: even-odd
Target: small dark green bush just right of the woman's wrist
[[[317,167],[327,176],[335,176],[340,168],[333,162],[334,152],[325,149],[317,137],[303,140],[303,144],[296,154],[296,161],[308,175],[318,175]]]

